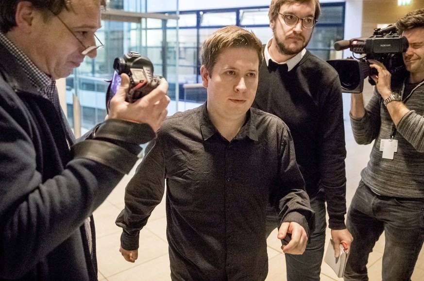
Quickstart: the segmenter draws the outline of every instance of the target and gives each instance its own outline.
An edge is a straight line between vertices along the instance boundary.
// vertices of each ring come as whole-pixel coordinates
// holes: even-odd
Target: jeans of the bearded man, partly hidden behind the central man
[[[319,191],[310,197],[311,208],[315,211],[315,231],[308,237],[306,250],[302,255],[286,254],[288,281],[316,281],[320,280],[322,257],[324,255],[325,229],[325,199],[324,193]],[[275,210],[267,215],[267,236],[279,227]],[[282,241],[282,243],[284,243]]]

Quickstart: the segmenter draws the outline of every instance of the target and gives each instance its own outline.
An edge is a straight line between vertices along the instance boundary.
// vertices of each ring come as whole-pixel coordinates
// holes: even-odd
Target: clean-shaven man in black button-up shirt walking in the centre
[[[126,187],[120,252],[135,262],[139,231],[167,183],[167,237],[172,280],[265,280],[266,207],[279,210],[285,253],[302,254],[314,213],[288,128],[250,108],[261,42],[221,28],[202,48],[207,102],[167,118]]]

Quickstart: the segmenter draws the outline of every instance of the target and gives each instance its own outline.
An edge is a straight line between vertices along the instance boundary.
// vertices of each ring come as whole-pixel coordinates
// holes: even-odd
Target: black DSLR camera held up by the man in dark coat
[[[130,89],[125,100],[134,102],[149,94],[159,85],[161,76],[153,75],[153,64],[148,57],[142,56],[135,51],[130,51],[122,57],[115,58],[113,62],[112,80],[106,92],[106,108],[109,108],[110,100],[115,96],[121,85],[121,74],[126,73],[130,77]]]

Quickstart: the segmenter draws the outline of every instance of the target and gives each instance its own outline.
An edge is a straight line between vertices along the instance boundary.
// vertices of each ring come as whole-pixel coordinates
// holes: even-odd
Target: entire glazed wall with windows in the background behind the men
[[[68,120],[73,125],[73,95],[80,101],[82,133],[104,120],[105,93],[113,61],[128,51],[150,58],[154,74],[165,77],[171,98],[169,114],[203,103],[199,50],[217,28],[237,25],[252,30],[266,43],[272,36],[268,6],[177,10],[178,0],[110,0],[97,36],[105,44],[94,59],[67,79]],[[344,38],[345,3],[322,3],[322,14],[307,47],[323,60],[334,58],[333,43]],[[153,11],[149,13],[148,7]],[[166,7],[166,8],[164,8]],[[75,106],[77,107],[77,106]]]

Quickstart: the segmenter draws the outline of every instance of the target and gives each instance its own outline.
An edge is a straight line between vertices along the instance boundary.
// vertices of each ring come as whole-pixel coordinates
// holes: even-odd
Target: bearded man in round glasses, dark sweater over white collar
[[[272,0],[273,37],[264,48],[253,107],[280,117],[290,129],[296,161],[316,214],[315,232],[303,255],[286,255],[288,280],[319,280],[325,243],[325,202],[329,228],[349,249],[346,214],[346,149],[343,105],[337,72],[305,49],[320,14],[318,0]],[[270,211],[268,233],[278,227]]]

